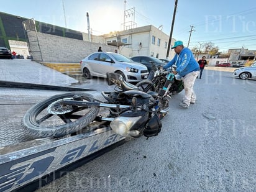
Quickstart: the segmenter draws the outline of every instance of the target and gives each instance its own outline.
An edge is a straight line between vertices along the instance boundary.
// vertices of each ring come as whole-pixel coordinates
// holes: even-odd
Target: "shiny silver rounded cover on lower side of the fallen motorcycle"
[[[140,120],[139,117],[116,117],[113,121],[110,123],[110,127],[116,134],[122,135],[126,137],[130,133],[130,129],[134,124],[136,124],[137,121]]]

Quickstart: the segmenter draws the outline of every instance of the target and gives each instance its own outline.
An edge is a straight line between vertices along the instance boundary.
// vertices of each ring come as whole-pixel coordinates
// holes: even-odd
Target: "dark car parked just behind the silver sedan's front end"
[[[149,71],[156,70],[158,66],[163,66],[164,63],[155,57],[148,57],[148,56],[135,56],[130,58],[134,62],[142,63],[143,65],[147,66]]]

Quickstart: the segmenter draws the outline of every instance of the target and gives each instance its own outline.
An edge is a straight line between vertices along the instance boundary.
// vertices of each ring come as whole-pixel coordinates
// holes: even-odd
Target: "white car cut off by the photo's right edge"
[[[252,63],[251,66],[245,66],[234,70],[234,77],[239,77],[242,80],[247,80],[248,78],[256,78],[256,61]]]

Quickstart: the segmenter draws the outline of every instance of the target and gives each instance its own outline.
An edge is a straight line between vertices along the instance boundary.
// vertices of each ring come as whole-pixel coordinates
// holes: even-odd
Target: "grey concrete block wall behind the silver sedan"
[[[33,31],[28,32],[28,37],[33,60],[39,62],[76,63],[90,53],[97,52],[100,46],[104,52],[114,52],[117,49],[105,43],[86,42],[39,32],[36,35]]]

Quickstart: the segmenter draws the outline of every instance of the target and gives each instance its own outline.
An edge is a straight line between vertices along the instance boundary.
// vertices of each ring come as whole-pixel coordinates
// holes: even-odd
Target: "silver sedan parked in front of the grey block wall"
[[[119,73],[129,83],[136,83],[148,78],[145,65],[136,63],[119,53],[94,52],[80,62],[85,78],[92,76],[106,78],[107,72]]]

